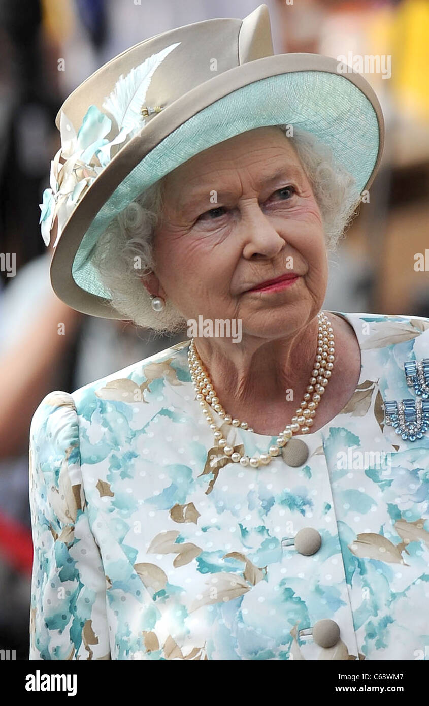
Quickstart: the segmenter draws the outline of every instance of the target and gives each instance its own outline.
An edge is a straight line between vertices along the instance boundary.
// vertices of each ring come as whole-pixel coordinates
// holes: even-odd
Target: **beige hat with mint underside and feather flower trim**
[[[266,5],[243,20],[163,32],[92,73],[56,116],[61,148],[40,205],[45,244],[54,238],[50,277],[59,299],[92,316],[125,318],[91,262],[109,222],[198,152],[277,124],[313,133],[360,193],[369,188],[384,141],[373,89],[328,56],[273,55]]]

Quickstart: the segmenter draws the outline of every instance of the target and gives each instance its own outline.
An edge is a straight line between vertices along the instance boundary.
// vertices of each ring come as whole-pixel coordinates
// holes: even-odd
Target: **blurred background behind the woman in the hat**
[[[361,73],[385,114],[385,156],[369,202],[330,258],[325,309],[429,316],[429,0],[265,3],[275,53],[348,63],[384,57],[378,72]],[[259,4],[0,0],[0,648],[16,650],[17,659],[29,650],[32,414],[52,390],[71,393],[186,338],[154,340],[130,322],[73,311],[52,292],[39,204],[61,147],[56,113],[87,76],[133,44],[200,20],[243,18]],[[426,256],[421,270],[417,253]],[[57,334],[59,321],[65,335]]]

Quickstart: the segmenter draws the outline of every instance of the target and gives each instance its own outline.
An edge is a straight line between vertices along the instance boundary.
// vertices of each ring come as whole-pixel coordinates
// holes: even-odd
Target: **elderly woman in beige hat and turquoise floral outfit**
[[[380,106],[271,47],[188,25],[59,114],[54,290],[188,331],[37,407],[30,659],[425,659],[429,321],[322,311]]]

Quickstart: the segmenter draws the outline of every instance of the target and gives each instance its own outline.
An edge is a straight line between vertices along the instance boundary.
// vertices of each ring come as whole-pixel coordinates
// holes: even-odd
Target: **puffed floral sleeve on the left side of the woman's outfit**
[[[111,659],[106,579],[87,513],[78,414],[69,393],[49,393],[33,414],[29,469],[29,659]]]

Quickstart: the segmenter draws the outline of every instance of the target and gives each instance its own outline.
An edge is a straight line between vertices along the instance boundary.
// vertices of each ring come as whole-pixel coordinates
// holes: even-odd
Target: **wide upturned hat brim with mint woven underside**
[[[347,73],[344,73],[347,71]],[[140,193],[212,145],[262,126],[291,124],[332,148],[369,189],[380,164],[384,120],[368,82],[336,59],[277,54],[225,71],[153,116],[107,164],[69,217],[52,256],[57,296],[77,311],[124,319],[90,261],[100,234]]]

